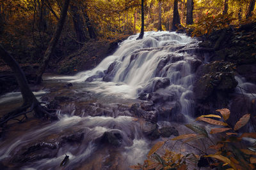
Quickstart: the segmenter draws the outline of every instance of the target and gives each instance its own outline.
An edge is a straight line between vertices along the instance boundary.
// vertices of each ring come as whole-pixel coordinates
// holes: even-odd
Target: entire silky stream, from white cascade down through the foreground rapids
[[[91,71],[45,78],[46,96],[67,99],[57,111],[60,120],[1,141],[0,161],[20,169],[129,169],[143,163],[152,144],[163,140],[152,136],[155,130],[177,129],[193,115],[194,72],[202,62],[194,54],[198,41],[184,34],[137,37]],[[67,83],[72,86],[64,88]],[[1,107],[6,100],[1,97]],[[68,164],[60,167],[65,154]]]

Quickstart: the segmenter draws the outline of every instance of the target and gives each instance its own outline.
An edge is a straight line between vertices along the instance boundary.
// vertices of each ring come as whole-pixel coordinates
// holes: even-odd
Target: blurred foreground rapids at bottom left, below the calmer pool
[[[108,157],[116,156],[116,153],[106,153],[109,146],[106,144],[104,146],[104,143],[100,143],[99,140],[104,132],[112,132],[122,136],[120,141],[122,141],[123,150],[119,154],[127,160],[125,164],[121,163],[120,166],[125,169],[131,164],[143,162],[149,150],[147,140],[141,138],[143,135],[140,131],[140,124],[132,119],[132,117],[68,117],[67,115],[60,115],[58,122],[33,127],[31,131],[26,132],[21,137],[13,136],[12,142],[10,142],[11,139],[6,139],[0,145],[5,146],[0,149],[0,160],[4,162],[15,157],[13,159],[15,162],[26,162],[25,166],[20,166],[22,169],[61,169],[60,162],[67,154],[69,162],[65,169],[79,167],[86,169],[90,162],[102,164]],[[65,136],[70,137],[67,140]],[[81,140],[80,143],[76,143],[76,136]],[[40,147],[35,149],[38,144],[43,149]],[[25,151],[32,154],[24,153],[22,148],[29,148]],[[49,152],[49,148],[51,154],[54,155],[53,159],[48,158],[49,153],[47,152]],[[38,154],[36,150],[41,152],[39,153],[40,159],[33,157],[33,154]],[[47,154],[44,153],[44,150]],[[15,156],[20,153],[22,153],[21,157]],[[97,157],[102,155],[104,158],[97,160]],[[120,157],[120,155],[118,156]],[[26,157],[28,159],[24,159]],[[107,167],[102,168],[108,169]]]

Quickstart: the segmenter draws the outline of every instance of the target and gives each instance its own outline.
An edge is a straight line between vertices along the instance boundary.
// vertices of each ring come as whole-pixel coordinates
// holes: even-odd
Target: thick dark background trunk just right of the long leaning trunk
[[[81,18],[80,14],[79,14],[79,10],[78,10],[77,6],[70,5],[70,12],[72,14],[72,19],[73,19],[73,23],[74,23],[74,29],[76,31],[77,41],[83,43],[86,40],[86,36],[83,31],[83,25],[84,25],[83,19]]]

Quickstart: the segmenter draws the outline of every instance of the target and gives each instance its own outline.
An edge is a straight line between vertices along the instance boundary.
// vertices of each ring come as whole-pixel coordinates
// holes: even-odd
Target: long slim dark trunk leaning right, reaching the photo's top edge
[[[63,8],[61,10],[61,15],[60,15],[60,20],[58,21],[58,25],[56,28],[56,31],[54,32],[52,39],[50,41],[50,44],[48,45],[45,53],[44,53],[44,62],[42,64],[42,66],[39,67],[38,72],[36,73],[36,83],[39,84],[42,81],[42,75],[44,74],[44,71],[46,69],[46,67],[49,64],[49,61],[51,59],[51,55],[52,52],[54,51],[58,40],[60,39],[60,34],[61,31],[63,29],[64,23],[65,23],[65,19],[67,16],[67,11],[68,11],[68,4],[69,4],[70,0],[65,0],[65,3],[63,4]]]

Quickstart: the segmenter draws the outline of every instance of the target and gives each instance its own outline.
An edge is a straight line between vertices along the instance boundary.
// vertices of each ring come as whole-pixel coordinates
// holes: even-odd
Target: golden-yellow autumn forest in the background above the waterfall
[[[170,31],[174,2],[144,1],[145,31]],[[180,24],[186,26],[188,2],[180,0],[177,3]],[[60,19],[62,5],[61,0],[0,1],[0,43],[21,63],[42,60]],[[61,60],[63,55],[70,55],[83,46],[84,42],[92,39],[113,39],[140,32],[140,5],[140,0],[70,1],[67,21],[61,34],[62,40],[54,52],[54,59]],[[209,16],[214,18],[218,14],[226,13],[228,18],[232,18],[232,23],[228,24],[243,23],[246,18],[252,16],[254,6],[255,0],[194,1],[191,6],[192,22],[195,23],[193,27],[198,27],[196,23]],[[191,21],[189,24],[192,24]]]

